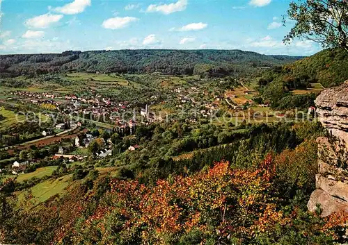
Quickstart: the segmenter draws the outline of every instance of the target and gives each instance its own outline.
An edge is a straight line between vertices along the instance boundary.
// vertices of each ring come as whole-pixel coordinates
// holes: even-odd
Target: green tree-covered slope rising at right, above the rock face
[[[348,79],[348,52],[326,49],[292,64],[264,71],[258,79],[260,93],[275,108],[294,105],[310,106],[315,94],[296,94],[295,90],[313,89],[314,84],[324,87],[340,85]]]

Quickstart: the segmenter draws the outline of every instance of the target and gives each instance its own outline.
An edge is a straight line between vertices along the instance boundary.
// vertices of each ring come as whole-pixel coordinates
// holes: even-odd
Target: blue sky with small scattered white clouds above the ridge
[[[290,0],[0,0],[0,53],[66,50],[242,49],[309,56],[282,40]]]

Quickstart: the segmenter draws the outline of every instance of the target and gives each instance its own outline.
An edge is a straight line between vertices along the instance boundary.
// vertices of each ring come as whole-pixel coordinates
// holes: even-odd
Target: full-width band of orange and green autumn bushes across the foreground
[[[13,216],[1,218],[0,242],[333,244],[342,238],[346,214],[322,219],[285,200],[286,185],[307,185],[296,155],[309,164],[303,148],[308,146],[314,151],[313,142],[305,142],[280,155],[269,154],[253,170],[216,162],[192,176],[171,176],[155,185],[99,176],[93,186],[79,182],[67,195],[32,209],[11,211],[0,198],[0,207],[10,210],[3,214]],[[289,173],[299,181],[293,182]]]

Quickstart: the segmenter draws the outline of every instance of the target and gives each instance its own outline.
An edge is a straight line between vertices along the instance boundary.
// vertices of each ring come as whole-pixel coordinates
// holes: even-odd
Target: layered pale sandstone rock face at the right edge
[[[315,100],[319,121],[329,137],[319,137],[319,174],[308,209],[319,208],[325,217],[332,212],[348,212],[348,81],[324,90]]]

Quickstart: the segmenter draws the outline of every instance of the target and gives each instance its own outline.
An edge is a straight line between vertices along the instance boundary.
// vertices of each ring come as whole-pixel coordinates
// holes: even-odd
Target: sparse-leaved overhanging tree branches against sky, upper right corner
[[[341,47],[348,51],[348,1],[306,0],[290,3],[288,18],[295,21],[283,42],[304,37],[322,44],[324,48]],[[283,18],[285,24],[286,19]]]

